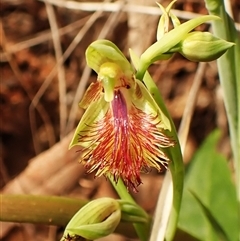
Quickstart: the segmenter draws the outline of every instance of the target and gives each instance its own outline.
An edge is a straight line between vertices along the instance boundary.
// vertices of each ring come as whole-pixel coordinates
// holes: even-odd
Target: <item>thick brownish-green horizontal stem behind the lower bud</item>
[[[37,195],[0,195],[0,221],[65,227],[87,200]],[[129,223],[121,222],[116,233],[129,238],[137,234]]]

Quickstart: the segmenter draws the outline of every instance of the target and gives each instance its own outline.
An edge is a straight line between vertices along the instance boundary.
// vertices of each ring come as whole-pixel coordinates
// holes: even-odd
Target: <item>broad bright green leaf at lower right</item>
[[[239,229],[237,197],[227,160],[217,151],[219,137],[218,130],[209,135],[186,173],[178,228],[198,240],[219,240],[214,223],[192,195],[193,191],[228,240],[236,241]]]

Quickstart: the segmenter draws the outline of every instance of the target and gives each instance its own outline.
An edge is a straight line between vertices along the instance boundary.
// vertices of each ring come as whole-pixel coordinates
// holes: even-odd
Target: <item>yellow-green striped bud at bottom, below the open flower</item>
[[[121,220],[118,201],[99,198],[82,207],[68,223],[62,240],[66,237],[83,237],[95,240],[114,232]]]

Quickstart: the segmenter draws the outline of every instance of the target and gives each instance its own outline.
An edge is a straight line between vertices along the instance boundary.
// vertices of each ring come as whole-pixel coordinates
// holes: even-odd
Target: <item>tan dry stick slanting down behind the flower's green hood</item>
[[[122,6],[121,6],[122,8]],[[105,38],[107,36],[107,34],[109,34],[110,29],[113,29],[115,27],[116,24],[118,24],[117,18],[120,16],[121,14],[121,8],[119,9],[119,11],[117,13],[112,13],[107,22],[104,24],[100,34],[98,35],[98,39],[101,38]],[[102,11],[99,11],[98,14],[101,14]],[[69,118],[68,118],[68,124],[67,124],[67,132],[71,131],[74,127],[74,123],[75,123],[75,119],[76,119],[76,115],[78,112],[78,103],[81,100],[84,92],[85,92],[85,88],[87,86],[87,81],[89,79],[91,73],[91,69],[88,66],[85,66],[84,70],[83,70],[83,74],[80,78],[78,87],[77,87],[77,91],[74,95],[74,100],[71,106],[71,110],[69,113]]]

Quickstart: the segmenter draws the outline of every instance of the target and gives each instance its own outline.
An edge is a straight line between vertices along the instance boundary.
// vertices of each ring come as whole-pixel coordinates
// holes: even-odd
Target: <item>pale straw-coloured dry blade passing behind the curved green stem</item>
[[[188,95],[186,107],[184,109],[183,117],[182,117],[180,128],[178,131],[178,136],[179,136],[183,157],[184,157],[184,151],[185,151],[185,146],[187,142],[187,136],[189,133],[190,122],[193,116],[194,107],[198,97],[197,93],[202,83],[205,67],[206,67],[206,63],[199,63],[198,65],[198,69]],[[164,240],[169,213],[171,211],[171,206],[172,206],[172,198],[173,198],[172,195],[173,194],[172,194],[171,173],[167,172],[163,180],[161,192],[159,193],[150,241]]]

